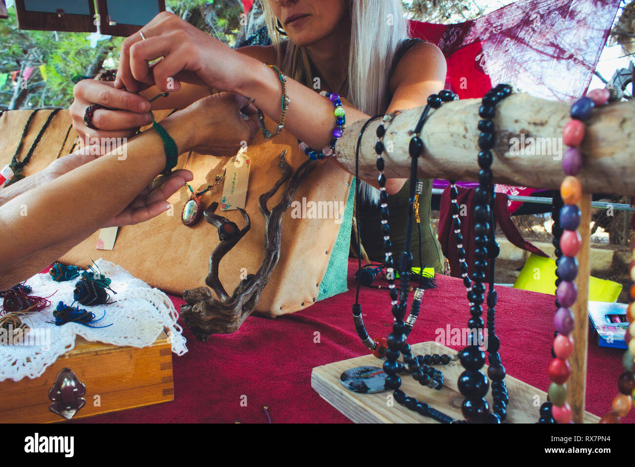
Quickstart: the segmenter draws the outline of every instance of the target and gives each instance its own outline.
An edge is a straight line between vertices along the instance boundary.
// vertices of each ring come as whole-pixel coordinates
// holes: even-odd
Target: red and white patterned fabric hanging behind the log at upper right
[[[460,24],[410,21],[411,36],[443,51],[446,88],[460,98],[483,97],[492,85],[510,83],[535,97],[570,101],[591,83],[619,4],[521,0]],[[497,185],[496,191],[530,196],[534,188]],[[521,205],[509,201],[507,208],[512,213]]]

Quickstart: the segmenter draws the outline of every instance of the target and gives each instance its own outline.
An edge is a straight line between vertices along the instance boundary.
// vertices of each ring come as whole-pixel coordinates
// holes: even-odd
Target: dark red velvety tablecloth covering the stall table
[[[273,423],[349,422],[311,388],[311,369],[367,353],[351,317],[356,269],[357,262],[351,260],[349,292],[304,311],[274,320],[251,316],[238,332],[212,335],[207,342],[196,341],[185,328],[189,351],[184,356],[173,355],[173,402],[75,423],[267,423],[264,405],[269,407]],[[467,326],[469,311],[462,281],[437,276],[437,283],[438,288],[425,292],[410,343],[434,341],[435,330],[447,325]],[[360,301],[371,337],[386,337],[392,321],[387,290],[363,288]],[[178,311],[182,299],[173,297],[173,302]],[[553,295],[498,288],[497,335],[507,374],[545,391],[550,382],[547,365],[554,312]],[[589,331],[588,353],[587,410],[602,416],[617,394],[624,351],[599,348]],[[538,417],[537,408],[535,412]],[[625,421],[634,421],[633,412]]]

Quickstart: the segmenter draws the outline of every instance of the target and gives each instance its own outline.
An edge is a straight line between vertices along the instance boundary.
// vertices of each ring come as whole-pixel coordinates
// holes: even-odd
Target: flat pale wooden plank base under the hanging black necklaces
[[[420,342],[412,345],[411,348],[415,355],[434,353],[455,355],[457,353],[438,342]],[[394,401],[394,405],[389,407],[388,396],[390,395],[392,400],[391,391],[358,394],[342,386],[340,375],[345,370],[366,365],[381,367],[382,363],[383,360],[378,360],[372,355],[364,355],[316,367],[311,373],[311,386],[326,402],[333,405],[335,409],[354,423],[438,423],[428,417],[422,417]],[[410,377],[410,374],[405,374],[401,378],[401,389],[407,395],[416,397],[421,402],[429,403],[431,407],[444,414],[455,419],[464,419],[461,414],[461,404],[464,397],[457,388],[458,376],[463,372],[463,367],[460,362],[450,362],[448,365],[435,365],[435,367],[443,370],[445,386],[440,391],[420,386],[417,381]],[[487,365],[483,367],[483,371],[486,372],[486,369]],[[547,378],[545,374],[545,380]],[[510,423],[535,423],[538,420],[540,405],[547,400],[547,393],[511,376],[505,377],[505,383],[509,394],[507,421]],[[491,391],[486,399],[490,402],[491,407]],[[599,417],[585,412],[584,421],[585,423],[598,423]]]

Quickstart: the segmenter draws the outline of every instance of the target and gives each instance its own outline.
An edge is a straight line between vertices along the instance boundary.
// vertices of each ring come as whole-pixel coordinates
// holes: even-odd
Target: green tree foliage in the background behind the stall
[[[236,47],[264,25],[261,1],[266,0],[257,0],[248,15],[243,13],[241,0],[166,0],[166,8]],[[496,0],[488,2],[486,7],[480,0],[402,0],[402,3],[409,18],[448,24],[478,18],[511,1]],[[631,15],[632,5],[631,1],[630,10],[626,8]],[[0,74],[18,71],[18,79],[8,79],[6,83],[0,80],[0,109],[68,107],[78,79],[117,66],[123,37],[100,36],[101,40],[96,41],[97,34],[20,30],[15,7],[8,13],[8,19],[0,20],[0,50],[3,51]],[[622,23],[631,27],[631,19],[628,17]],[[622,23],[620,34],[632,40]],[[24,81],[22,74],[31,67],[33,72],[28,81]]]

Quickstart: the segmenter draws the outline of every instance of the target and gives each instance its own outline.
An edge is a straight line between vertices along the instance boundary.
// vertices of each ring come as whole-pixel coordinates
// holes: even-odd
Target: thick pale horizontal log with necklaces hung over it
[[[478,181],[479,166],[477,124],[480,99],[446,102],[430,112],[421,133],[424,153],[418,161],[422,178]],[[549,154],[550,143],[561,144],[562,130],[571,119],[571,104],[553,102],[525,93],[512,94],[496,106],[497,142],[493,148],[491,169],[494,181],[514,186],[558,189],[564,177],[562,161]],[[424,107],[402,112],[388,126],[384,144],[391,149],[384,154],[386,177],[408,178],[410,157],[408,144]],[[373,150],[380,121],[371,122],[361,141],[359,173],[362,178],[377,177]],[[364,121],[351,123],[337,143],[337,158],[346,170],[355,173],[355,145]],[[585,121],[587,128],[580,151],[585,155],[578,175],[587,193],[635,194],[635,100],[603,105],[593,110]],[[513,138],[536,139],[538,154],[525,146],[525,154],[511,154]],[[538,140],[540,138],[540,140]],[[389,146],[392,142],[392,147]],[[520,145],[519,145],[520,146]],[[551,148],[553,149],[553,148]],[[566,151],[566,146],[561,147]],[[551,151],[554,152],[554,151]]]

